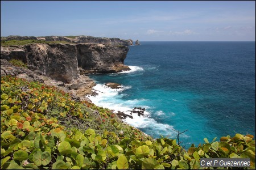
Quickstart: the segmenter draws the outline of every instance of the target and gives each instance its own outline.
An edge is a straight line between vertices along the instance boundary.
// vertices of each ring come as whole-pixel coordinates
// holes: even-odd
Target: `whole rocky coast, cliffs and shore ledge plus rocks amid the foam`
[[[7,41],[51,41],[27,45],[2,45]],[[59,42],[61,41],[61,43]],[[67,43],[62,43],[62,42]],[[56,42],[56,43],[55,43]],[[5,44],[5,43],[3,43]],[[1,75],[14,75],[28,81],[38,81],[69,92],[77,100],[90,101],[86,95],[96,96],[92,88],[96,83],[86,74],[117,73],[130,70],[124,65],[133,40],[99,38],[91,36],[9,36],[1,37]],[[135,45],[140,45],[137,40]],[[10,60],[22,61],[27,67],[13,65]],[[110,88],[121,88],[121,84],[106,83]],[[143,108],[134,108],[129,114],[118,112],[119,118],[143,116]]]

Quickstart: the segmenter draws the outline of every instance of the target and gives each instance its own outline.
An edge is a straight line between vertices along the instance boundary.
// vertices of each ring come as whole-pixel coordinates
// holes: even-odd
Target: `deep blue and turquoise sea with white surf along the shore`
[[[190,147],[214,137],[255,135],[255,42],[145,41],[129,46],[131,71],[94,74],[96,105],[144,116],[125,121],[144,133]],[[122,84],[119,90],[104,86]]]

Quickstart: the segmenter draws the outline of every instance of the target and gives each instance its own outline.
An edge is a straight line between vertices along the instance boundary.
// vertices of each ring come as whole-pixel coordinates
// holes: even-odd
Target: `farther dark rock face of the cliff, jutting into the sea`
[[[127,46],[104,44],[77,44],[77,61],[84,73],[117,73],[130,70],[123,65]]]

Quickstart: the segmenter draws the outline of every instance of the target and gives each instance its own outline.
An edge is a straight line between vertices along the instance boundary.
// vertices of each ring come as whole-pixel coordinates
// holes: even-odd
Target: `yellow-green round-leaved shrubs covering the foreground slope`
[[[1,169],[200,169],[200,158],[250,158],[253,135],[204,139],[188,151],[152,139],[109,109],[38,82],[1,76]]]

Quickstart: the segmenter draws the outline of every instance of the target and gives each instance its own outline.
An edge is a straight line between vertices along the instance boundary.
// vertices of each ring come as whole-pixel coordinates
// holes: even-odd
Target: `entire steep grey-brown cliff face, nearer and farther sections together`
[[[20,59],[31,70],[62,82],[81,73],[116,73],[130,70],[123,65],[127,46],[103,44],[31,44],[1,46],[1,59]]]

